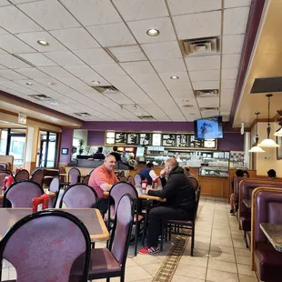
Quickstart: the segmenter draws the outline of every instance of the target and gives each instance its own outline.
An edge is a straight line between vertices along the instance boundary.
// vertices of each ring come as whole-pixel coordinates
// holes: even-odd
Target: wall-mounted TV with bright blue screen
[[[197,119],[194,125],[197,139],[223,138],[222,116]]]

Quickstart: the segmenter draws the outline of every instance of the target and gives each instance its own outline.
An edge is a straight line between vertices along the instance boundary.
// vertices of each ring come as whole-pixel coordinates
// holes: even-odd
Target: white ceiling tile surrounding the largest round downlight
[[[176,34],[169,17],[128,22],[127,25],[135,35],[136,40],[139,44],[176,40]],[[146,31],[149,28],[157,29],[159,31],[159,35],[147,35]]]

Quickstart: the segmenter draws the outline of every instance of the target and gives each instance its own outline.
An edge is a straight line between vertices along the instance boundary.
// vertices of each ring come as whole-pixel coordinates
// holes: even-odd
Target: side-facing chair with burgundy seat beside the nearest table
[[[91,250],[88,280],[120,277],[125,281],[126,256],[133,225],[134,200],[131,195],[121,197],[116,207],[116,218],[109,248]],[[79,257],[71,270],[71,277],[80,277],[83,256]]]

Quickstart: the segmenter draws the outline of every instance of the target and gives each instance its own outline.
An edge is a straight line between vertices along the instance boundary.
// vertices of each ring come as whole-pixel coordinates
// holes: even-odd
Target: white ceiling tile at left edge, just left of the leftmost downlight
[[[14,35],[1,35],[0,47],[9,53],[30,53],[35,52],[35,49],[26,45],[23,41],[16,38]]]

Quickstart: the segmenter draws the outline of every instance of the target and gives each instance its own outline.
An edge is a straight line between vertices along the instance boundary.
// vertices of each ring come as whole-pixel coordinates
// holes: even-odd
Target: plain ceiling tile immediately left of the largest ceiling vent
[[[182,57],[176,41],[141,45],[150,60],[174,59]]]

